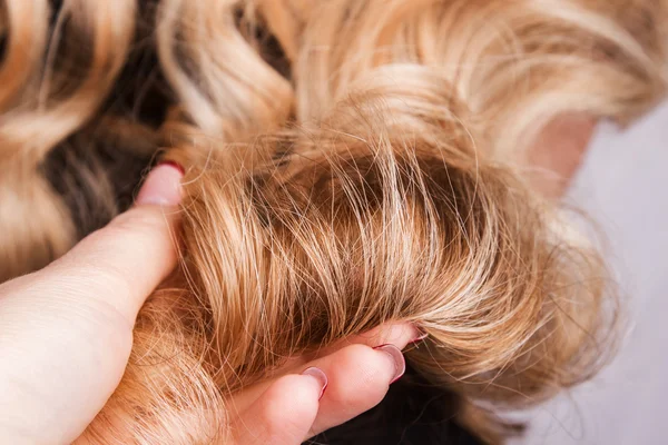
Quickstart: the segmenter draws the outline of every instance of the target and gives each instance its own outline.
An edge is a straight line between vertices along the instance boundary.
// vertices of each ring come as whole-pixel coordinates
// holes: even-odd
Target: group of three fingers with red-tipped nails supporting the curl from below
[[[403,375],[401,349],[422,338],[411,325],[384,325],[311,363],[294,359],[283,377],[248,388],[228,404],[235,444],[298,445],[371,409]]]

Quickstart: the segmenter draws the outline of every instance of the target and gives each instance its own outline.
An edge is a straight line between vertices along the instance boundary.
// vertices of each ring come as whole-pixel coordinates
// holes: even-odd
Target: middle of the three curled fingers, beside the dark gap
[[[390,385],[405,372],[401,349],[394,345],[374,348],[347,346],[313,362],[328,377],[328,386],[311,435],[341,425],[376,406]]]

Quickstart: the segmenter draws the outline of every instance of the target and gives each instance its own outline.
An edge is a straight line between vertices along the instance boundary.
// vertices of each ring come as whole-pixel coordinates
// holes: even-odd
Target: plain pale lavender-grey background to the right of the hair
[[[519,444],[668,444],[668,105],[601,125],[568,200],[600,224],[630,326],[595,380],[532,413]]]

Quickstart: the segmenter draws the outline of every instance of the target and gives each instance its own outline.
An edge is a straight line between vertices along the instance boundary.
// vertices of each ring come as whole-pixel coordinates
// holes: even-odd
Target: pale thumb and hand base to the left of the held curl
[[[61,260],[0,286],[0,435],[70,443],[102,408],[141,303],[175,265],[165,205],[176,202],[179,178],[156,168],[136,208]]]

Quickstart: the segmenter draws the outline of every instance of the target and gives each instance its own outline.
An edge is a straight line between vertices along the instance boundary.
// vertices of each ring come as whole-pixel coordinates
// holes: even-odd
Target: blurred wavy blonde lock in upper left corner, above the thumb
[[[66,0],[48,39],[46,0],[3,4],[1,280],[45,266],[73,244],[75,228],[39,166],[110,90],[131,40],[135,8],[134,0]]]

